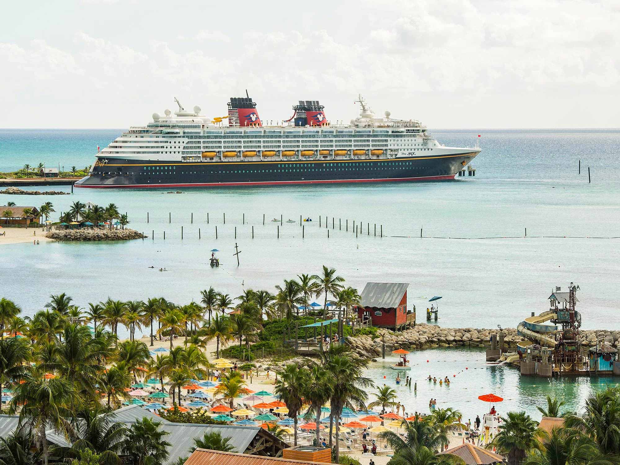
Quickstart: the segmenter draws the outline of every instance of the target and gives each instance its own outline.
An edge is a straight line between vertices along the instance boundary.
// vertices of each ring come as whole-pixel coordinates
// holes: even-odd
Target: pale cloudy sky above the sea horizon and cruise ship
[[[5,2],[0,128],[127,128],[246,89],[429,128],[620,126],[618,0]]]

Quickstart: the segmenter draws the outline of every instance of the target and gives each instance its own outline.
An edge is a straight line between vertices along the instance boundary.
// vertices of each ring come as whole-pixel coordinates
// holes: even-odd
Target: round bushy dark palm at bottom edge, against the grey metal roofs
[[[128,456],[131,465],[167,462],[168,448],[172,444],[165,439],[169,433],[161,431],[160,426],[161,422],[153,422],[149,418],[142,418],[131,425],[122,445],[123,453]]]

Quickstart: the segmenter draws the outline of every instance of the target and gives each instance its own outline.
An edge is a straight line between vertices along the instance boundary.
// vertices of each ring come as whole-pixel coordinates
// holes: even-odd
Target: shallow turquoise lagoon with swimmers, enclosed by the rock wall
[[[575,412],[585,405],[591,393],[606,386],[618,386],[620,382],[620,378],[611,376],[561,379],[520,376],[517,368],[486,366],[484,351],[480,349],[436,348],[412,352],[407,357],[412,370],[392,370],[387,365],[395,363],[397,358],[390,356],[385,361],[379,358],[377,363],[372,363],[366,376],[377,386],[387,384],[396,389],[399,401],[409,414],[430,412],[428,401],[433,398],[437,400],[437,407],[460,410],[464,422],[468,418],[473,421],[476,415],[482,418],[490,410],[487,402],[478,399],[483,394],[503,397],[502,402],[494,404],[500,414],[509,410],[525,410],[532,418],[539,420],[542,415],[536,407],[546,407],[547,395],[564,400],[566,405],[562,408]],[[396,373],[400,373],[403,380],[400,385],[394,381]],[[436,384],[427,381],[429,374],[437,378]],[[411,387],[404,386],[408,375],[414,380]],[[439,379],[445,376],[450,379],[450,385],[440,386]],[[417,383],[417,390],[414,390],[414,383]],[[371,395],[370,399],[374,400],[374,397]]]

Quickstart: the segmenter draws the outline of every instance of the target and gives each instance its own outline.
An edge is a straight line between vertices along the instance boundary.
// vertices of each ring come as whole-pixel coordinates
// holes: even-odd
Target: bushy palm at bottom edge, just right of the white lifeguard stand
[[[502,417],[503,427],[493,438],[492,445],[499,453],[508,454],[508,465],[518,465],[525,458],[525,452],[536,445],[534,422],[525,412],[508,412]]]

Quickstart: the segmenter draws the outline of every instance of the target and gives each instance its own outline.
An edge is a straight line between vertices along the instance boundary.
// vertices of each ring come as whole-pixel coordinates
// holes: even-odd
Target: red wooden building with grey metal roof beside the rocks
[[[373,326],[404,330],[415,326],[415,307],[407,309],[407,283],[366,283],[357,315]]]

